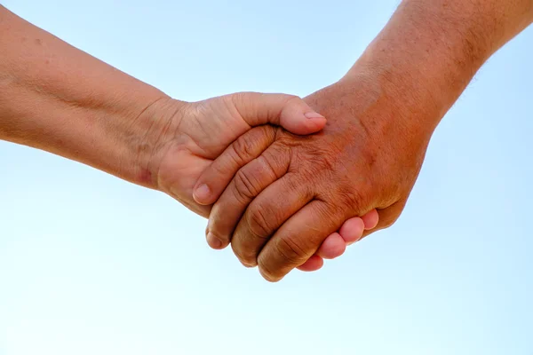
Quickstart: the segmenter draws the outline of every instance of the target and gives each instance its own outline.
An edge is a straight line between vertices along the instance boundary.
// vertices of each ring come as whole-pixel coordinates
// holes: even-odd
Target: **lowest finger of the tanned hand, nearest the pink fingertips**
[[[315,200],[290,217],[259,254],[259,272],[265,280],[282,280],[313,256],[322,241],[344,222],[346,217],[335,212],[327,203]]]

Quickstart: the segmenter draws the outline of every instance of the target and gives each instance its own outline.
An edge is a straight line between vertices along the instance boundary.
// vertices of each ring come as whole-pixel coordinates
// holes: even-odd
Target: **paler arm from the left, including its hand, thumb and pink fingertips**
[[[195,202],[193,186],[236,138],[267,123],[306,135],[326,122],[290,95],[242,92],[194,103],[171,99],[3,6],[0,48],[0,139],[168,193],[203,217],[211,206]],[[372,211],[346,221],[320,255],[337,256],[377,218]],[[303,270],[321,266],[311,262]]]

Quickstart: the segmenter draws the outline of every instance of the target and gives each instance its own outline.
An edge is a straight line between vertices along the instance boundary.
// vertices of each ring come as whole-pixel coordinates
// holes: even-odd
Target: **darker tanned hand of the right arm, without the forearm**
[[[424,111],[406,109],[394,97],[386,83],[358,75],[306,98],[329,118],[320,133],[297,137],[272,128],[264,131],[265,139],[253,131],[244,135],[197,183],[214,185],[220,167],[227,177],[235,175],[211,211],[209,233],[231,241],[243,264],[259,264],[265,279],[277,281],[306,263],[348,218],[378,209],[373,231],[392,225],[431,135],[408,124]],[[252,153],[268,147],[257,158],[247,156],[250,162],[238,170],[232,152],[243,146]]]

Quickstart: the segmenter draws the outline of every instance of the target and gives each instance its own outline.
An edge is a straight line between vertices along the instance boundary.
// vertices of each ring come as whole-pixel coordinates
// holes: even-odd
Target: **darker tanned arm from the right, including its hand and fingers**
[[[338,83],[306,98],[328,117],[321,132],[297,137],[254,130],[245,164],[232,146],[196,187],[217,172],[231,180],[216,201],[208,233],[231,246],[266,280],[305,264],[346,218],[377,209],[377,228],[402,213],[437,124],[495,51],[533,21],[531,0],[406,0]],[[242,152],[239,152],[242,153]],[[235,177],[234,177],[235,176]]]

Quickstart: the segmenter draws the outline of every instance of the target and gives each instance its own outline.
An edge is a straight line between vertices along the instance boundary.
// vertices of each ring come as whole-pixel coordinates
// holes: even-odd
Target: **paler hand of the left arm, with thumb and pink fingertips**
[[[251,92],[196,103],[160,99],[149,106],[140,119],[154,122],[147,132],[147,141],[151,142],[147,146],[152,146],[154,153],[149,154],[143,175],[152,180],[153,187],[170,194],[203,217],[209,216],[211,206],[193,200],[196,180],[214,158],[236,138],[251,130],[251,126],[281,124],[293,133],[309,134],[322,130],[325,124],[325,118],[302,99]],[[268,136],[264,138],[268,139]],[[215,180],[212,187],[222,190],[226,187],[222,184],[222,180]],[[302,270],[317,270],[322,266],[322,256],[333,258],[342,254],[346,243],[360,238],[364,227],[376,225],[376,219],[377,215],[373,213],[363,220],[352,218],[346,221],[341,233],[333,233],[324,243],[320,256],[302,265]]]

